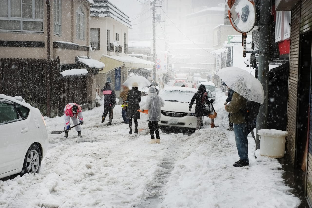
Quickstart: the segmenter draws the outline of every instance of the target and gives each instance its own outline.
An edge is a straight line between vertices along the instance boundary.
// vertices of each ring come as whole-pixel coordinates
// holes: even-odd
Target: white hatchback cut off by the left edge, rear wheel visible
[[[38,173],[48,149],[46,124],[37,108],[0,94],[0,178]]]

